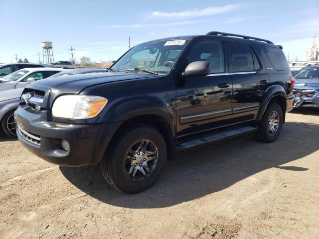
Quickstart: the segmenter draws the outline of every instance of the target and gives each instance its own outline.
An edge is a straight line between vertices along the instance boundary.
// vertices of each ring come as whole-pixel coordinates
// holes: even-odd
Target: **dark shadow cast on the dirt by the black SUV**
[[[303,173],[307,167],[280,165],[319,149],[319,124],[286,122],[274,143],[258,142],[250,136],[179,153],[166,162],[160,180],[153,187],[135,195],[108,186],[100,165],[60,166],[60,171],[77,188],[104,203],[124,208],[162,208],[218,192],[272,167]]]

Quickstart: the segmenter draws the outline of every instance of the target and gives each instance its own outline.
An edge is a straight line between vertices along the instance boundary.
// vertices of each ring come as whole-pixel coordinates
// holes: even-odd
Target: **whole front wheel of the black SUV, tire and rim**
[[[131,124],[121,129],[108,148],[101,169],[106,181],[115,189],[138,193],[159,179],[167,153],[165,140],[156,128]]]

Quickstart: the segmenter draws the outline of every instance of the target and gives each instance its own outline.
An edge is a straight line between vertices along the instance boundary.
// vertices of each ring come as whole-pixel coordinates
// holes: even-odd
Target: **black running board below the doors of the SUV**
[[[191,149],[191,148],[195,148],[195,147],[198,147],[198,146],[201,146],[204,144],[213,143],[216,141],[235,137],[235,136],[249,133],[249,132],[253,132],[256,130],[257,130],[257,126],[245,126],[245,127],[241,127],[241,128],[235,128],[235,129],[232,129],[229,131],[224,131],[221,133],[208,135],[208,136],[203,137],[203,138],[198,138],[198,139],[194,139],[191,141],[177,144],[177,145],[175,145],[175,150],[181,151],[181,150]]]

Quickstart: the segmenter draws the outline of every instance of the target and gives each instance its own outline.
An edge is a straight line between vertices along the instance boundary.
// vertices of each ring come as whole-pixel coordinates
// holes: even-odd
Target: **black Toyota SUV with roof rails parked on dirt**
[[[223,32],[146,42],[106,73],[27,86],[15,112],[20,142],[64,166],[101,162],[114,188],[152,186],[166,158],[243,133],[275,141],[292,110],[281,46]]]

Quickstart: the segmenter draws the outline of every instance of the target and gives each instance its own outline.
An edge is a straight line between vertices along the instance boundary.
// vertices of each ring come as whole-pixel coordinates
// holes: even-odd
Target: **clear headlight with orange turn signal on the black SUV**
[[[89,119],[96,117],[108,100],[99,96],[64,95],[53,103],[52,116],[66,119]]]

